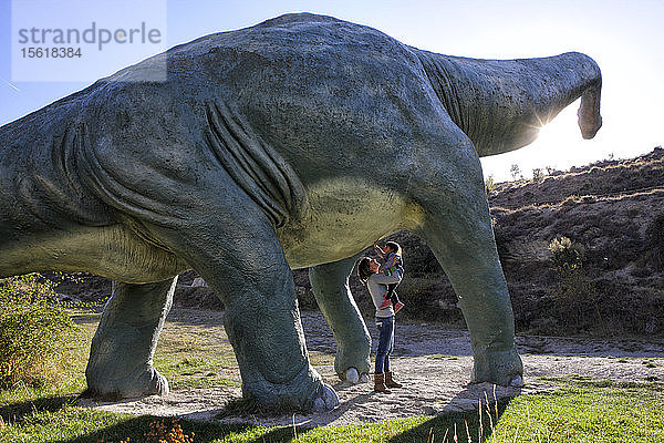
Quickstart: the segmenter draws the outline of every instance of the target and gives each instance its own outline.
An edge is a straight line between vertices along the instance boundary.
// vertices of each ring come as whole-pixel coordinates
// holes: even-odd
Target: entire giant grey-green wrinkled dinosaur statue
[[[164,58],[168,80],[146,80]],[[117,280],[86,375],[131,396],[168,391],[152,359],[176,276],[194,268],[227,307],[243,394],[323,410],[338,398],[309,362],[291,268],[312,267],[336,372],[356,380],[370,338],[347,277],[406,229],[460,299],[474,380],[515,383],[479,157],[527,145],[579,96],[592,137],[600,86],[580,53],[447,56],[312,14],[204,37],[0,128],[0,275]]]

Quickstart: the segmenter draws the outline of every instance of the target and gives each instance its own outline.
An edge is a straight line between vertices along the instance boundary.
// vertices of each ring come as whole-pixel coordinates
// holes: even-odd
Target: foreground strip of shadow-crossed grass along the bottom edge
[[[457,441],[467,442],[466,424],[473,442],[664,442],[661,383],[560,383],[559,392],[521,395],[497,412],[491,405],[490,419],[485,409],[481,440],[477,412],[314,429],[180,424],[196,442],[454,442],[455,430]],[[141,442],[158,420],[75,408],[62,399],[37,402],[9,423],[2,415],[0,442]]]

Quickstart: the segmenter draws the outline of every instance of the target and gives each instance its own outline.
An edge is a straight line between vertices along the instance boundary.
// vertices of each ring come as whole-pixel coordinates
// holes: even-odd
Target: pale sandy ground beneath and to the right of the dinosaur
[[[206,313],[208,315],[208,313]],[[222,313],[214,313],[221,316]],[[334,352],[332,332],[320,313],[303,312],[308,348]],[[376,340],[375,328],[367,327]],[[581,374],[598,380],[664,380],[664,343],[644,341],[591,340],[552,337],[519,337],[526,387],[469,384],[473,368],[469,337],[466,331],[397,319],[393,358],[395,378],[403,389],[391,394],[374,393],[372,383],[352,385],[339,380],[332,365],[317,367],[323,379],[334,387],[340,405],[326,413],[288,416],[226,416],[226,422],[251,422],[264,425],[344,425],[413,415],[436,415],[447,411],[476,409],[478,400],[501,399],[557,389],[542,378]],[[656,364],[649,368],[644,363]],[[225,404],[240,396],[239,389],[198,389],[176,391],[169,395],[120,402],[81,401],[81,405],[107,411],[159,416],[218,420]]]

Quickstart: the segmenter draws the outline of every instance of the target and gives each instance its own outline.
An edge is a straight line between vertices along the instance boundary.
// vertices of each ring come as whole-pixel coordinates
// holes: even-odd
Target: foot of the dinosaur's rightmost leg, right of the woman
[[[516,349],[474,352],[473,382],[489,382],[502,387],[523,385],[523,363]]]

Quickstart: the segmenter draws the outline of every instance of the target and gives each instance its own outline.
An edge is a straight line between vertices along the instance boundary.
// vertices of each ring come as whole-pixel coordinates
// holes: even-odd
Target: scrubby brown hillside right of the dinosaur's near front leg
[[[663,203],[661,147],[496,186],[489,204],[517,329],[661,336]],[[571,240],[574,269],[560,266],[564,251],[548,249],[560,237]]]

